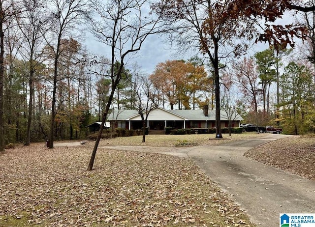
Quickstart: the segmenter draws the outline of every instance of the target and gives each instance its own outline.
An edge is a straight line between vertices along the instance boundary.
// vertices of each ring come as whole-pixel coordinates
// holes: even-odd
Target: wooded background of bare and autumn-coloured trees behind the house
[[[241,0],[180,1],[191,9],[204,9],[206,14],[198,13],[195,17],[194,22],[200,20],[200,24],[191,24],[183,5],[172,5],[175,0],[155,4],[152,7],[155,14],[147,14],[152,16],[148,22],[147,17],[139,16],[143,7],[140,2],[147,3],[0,1],[1,144],[84,139],[88,133],[86,126],[101,121],[104,112],[110,111],[108,105],[116,109],[139,108],[139,90],[147,94],[147,102],[165,109],[198,109],[208,105],[211,109],[238,111],[247,123],[279,126],[285,133],[315,131],[313,0],[302,6],[294,6],[289,0],[263,3],[259,5],[260,14],[249,11],[250,3],[249,8],[235,8],[246,5]],[[130,17],[130,9],[135,17]],[[265,13],[267,9],[273,17]],[[284,11],[292,9],[298,10],[295,14],[298,20],[294,26],[283,27],[287,30],[261,24],[262,19],[274,22]],[[230,19],[223,21],[226,12]],[[134,18],[141,22],[138,27]],[[258,27],[246,30],[247,34],[245,30],[240,32],[237,28],[250,25],[249,18],[254,18]],[[214,28],[214,22],[222,30]],[[138,32],[132,32],[135,28]],[[128,29],[129,33],[124,33]],[[112,48],[112,56],[90,53],[84,45],[83,31],[91,32],[100,43]],[[199,55],[183,60],[187,53],[182,53],[179,56],[183,57],[177,60],[160,62],[151,75],[141,71],[141,65],[126,64],[126,56],[140,50],[148,35],[160,34],[166,35],[165,40],[177,37],[173,42],[180,45],[179,49],[186,45],[187,49],[199,49]],[[248,44],[235,41],[236,36],[268,42],[271,48],[244,57]],[[293,37],[302,38],[303,44],[294,45]],[[217,52],[210,53],[211,50]]]

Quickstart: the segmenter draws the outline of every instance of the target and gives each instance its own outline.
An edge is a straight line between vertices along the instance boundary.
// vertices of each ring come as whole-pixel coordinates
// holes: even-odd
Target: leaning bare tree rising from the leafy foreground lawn
[[[91,19],[91,31],[98,41],[110,49],[109,71],[111,93],[102,114],[102,123],[92,151],[88,170],[93,169],[96,150],[110,110],[114,92],[125,73],[125,64],[134,53],[141,49],[149,35],[160,32],[160,18],[148,10],[147,0],[91,0],[91,8],[97,15]]]

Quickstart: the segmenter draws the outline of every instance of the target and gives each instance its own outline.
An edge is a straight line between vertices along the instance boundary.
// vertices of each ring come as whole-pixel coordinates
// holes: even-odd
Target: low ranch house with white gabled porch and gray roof
[[[107,120],[111,123],[111,128],[141,129],[141,116],[136,110],[113,110]],[[232,127],[240,127],[240,121],[243,118],[239,114],[231,117]],[[164,131],[165,127],[174,127],[177,129],[185,128],[214,128],[216,122],[216,113],[214,110],[208,110],[205,106],[203,110],[165,110],[160,107],[154,108],[147,121],[149,134],[154,131]],[[227,114],[221,111],[221,128],[228,127]]]

